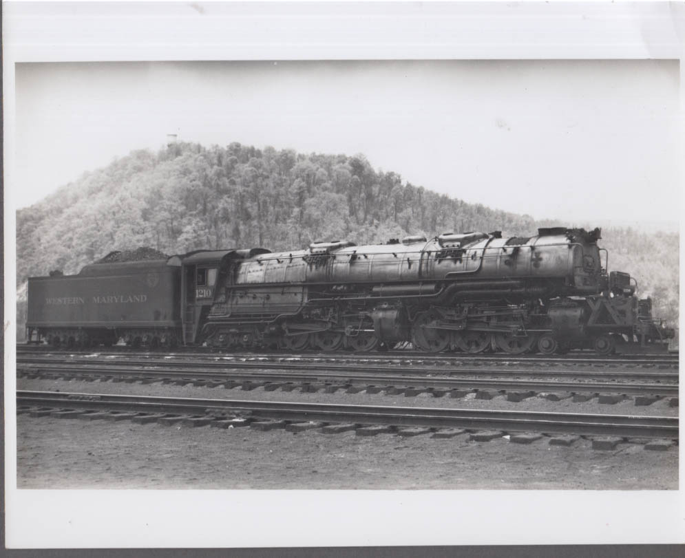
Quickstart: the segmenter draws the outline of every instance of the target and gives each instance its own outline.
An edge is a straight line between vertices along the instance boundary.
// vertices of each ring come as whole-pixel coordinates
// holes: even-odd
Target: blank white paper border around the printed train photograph
[[[682,490],[18,490],[12,196],[21,187],[13,182],[15,63],[680,59],[684,8],[682,3],[3,3],[8,548],[685,541]],[[684,77],[681,63],[681,83]],[[682,100],[682,87],[680,95]],[[681,476],[682,457],[681,451]]]

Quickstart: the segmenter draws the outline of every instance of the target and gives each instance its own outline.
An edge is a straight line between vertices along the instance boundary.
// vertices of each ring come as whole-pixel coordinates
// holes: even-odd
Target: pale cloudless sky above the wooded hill
[[[470,203],[598,226],[679,219],[677,61],[23,63],[19,207],[179,140],[363,154]]]

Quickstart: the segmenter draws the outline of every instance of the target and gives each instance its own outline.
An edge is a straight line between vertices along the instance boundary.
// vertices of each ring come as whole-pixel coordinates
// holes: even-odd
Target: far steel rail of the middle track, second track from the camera
[[[354,364],[336,364],[336,363],[322,363],[314,361],[300,361],[300,362],[267,362],[267,361],[203,361],[203,362],[174,362],[170,359],[145,359],[145,360],[127,360],[127,361],[74,361],[71,359],[62,359],[55,361],[54,358],[19,358],[17,369],[25,365],[39,365],[56,367],[58,365],[64,367],[93,367],[94,365],[101,365],[108,369],[114,369],[116,366],[120,367],[163,367],[164,369],[187,369],[187,370],[202,370],[202,369],[221,369],[225,371],[236,369],[248,370],[280,370],[280,371],[302,371],[310,372],[338,372],[339,374],[366,372],[375,374],[426,374],[434,376],[477,376],[483,377],[500,377],[500,376],[518,376],[527,378],[539,377],[553,377],[553,378],[587,378],[597,380],[610,379],[630,379],[630,380],[649,380],[652,382],[677,382],[677,372],[644,372],[635,370],[606,370],[598,372],[584,371],[584,370],[565,370],[565,369],[539,369],[539,370],[520,370],[520,369],[481,369],[481,368],[463,368],[463,367],[421,367],[415,365],[403,365],[397,363],[394,365],[368,365],[366,363]]]

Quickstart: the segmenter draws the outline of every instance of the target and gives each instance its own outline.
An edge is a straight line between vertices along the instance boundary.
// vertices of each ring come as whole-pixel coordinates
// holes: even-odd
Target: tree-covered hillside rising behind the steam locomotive
[[[468,186],[455,178],[456,196],[460,187]],[[158,153],[134,151],[18,211],[17,288],[27,277],[78,272],[112,250],[140,246],[167,254],[233,246],[277,250],[319,239],[362,244],[446,230],[530,235],[537,226],[528,215],[402,182],[361,155],[171,144]],[[658,299],[660,314],[677,319],[678,235],[604,229],[603,237],[610,267],[629,270],[642,293]]]

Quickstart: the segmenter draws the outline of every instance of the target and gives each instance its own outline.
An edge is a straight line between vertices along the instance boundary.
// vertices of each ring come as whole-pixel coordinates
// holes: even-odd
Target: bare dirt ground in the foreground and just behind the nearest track
[[[302,400],[559,412],[677,416],[660,401],[598,405],[531,398],[493,400],[384,394],[302,394],[171,385],[18,380],[18,389],[156,394],[205,398]],[[678,451],[646,451],[619,444],[591,449],[530,445],[505,438],[470,442],[467,436],[374,437],[257,431],[249,427],[171,427],[132,422],[17,418],[17,485],[21,489],[677,489]]]

